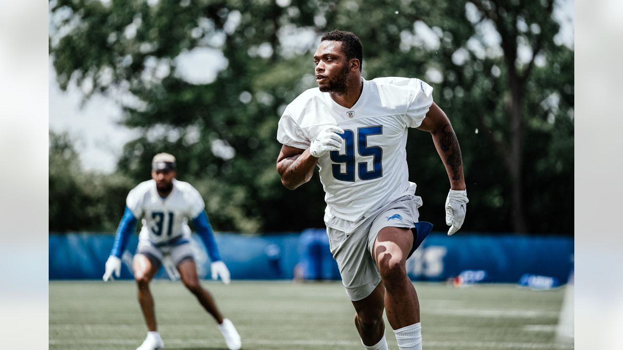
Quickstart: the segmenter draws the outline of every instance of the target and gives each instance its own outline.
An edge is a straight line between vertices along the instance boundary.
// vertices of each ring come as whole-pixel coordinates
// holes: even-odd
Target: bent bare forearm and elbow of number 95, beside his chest
[[[312,156],[309,149],[284,144],[277,158],[277,173],[281,176],[281,183],[288,189],[295,189],[310,181],[316,163],[318,158]]]

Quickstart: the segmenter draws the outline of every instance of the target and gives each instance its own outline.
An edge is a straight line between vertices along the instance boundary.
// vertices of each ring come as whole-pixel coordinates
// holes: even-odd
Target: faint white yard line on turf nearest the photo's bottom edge
[[[202,346],[205,345],[209,339],[164,339],[166,344],[173,345],[186,345],[186,346]],[[60,341],[57,339],[50,339],[50,344],[53,345],[132,345],[140,343],[140,339],[68,339]],[[359,341],[326,341],[315,339],[242,339],[243,344],[255,344],[255,345],[276,345],[276,346],[356,346],[361,347]],[[547,343],[500,343],[495,341],[424,341],[422,343],[426,347],[432,348],[478,348],[478,349],[556,349],[556,350],[568,350],[573,349],[571,345],[564,344],[547,344]]]

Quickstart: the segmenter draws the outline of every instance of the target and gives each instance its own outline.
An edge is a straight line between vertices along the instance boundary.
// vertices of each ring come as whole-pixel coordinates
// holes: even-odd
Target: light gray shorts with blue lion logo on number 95
[[[342,283],[352,301],[370,295],[381,281],[372,255],[374,240],[384,227],[413,229],[419,219],[419,196],[407,195],[388,203],[359,222],[333,217],[326,222],[331,254],[338,263]]]

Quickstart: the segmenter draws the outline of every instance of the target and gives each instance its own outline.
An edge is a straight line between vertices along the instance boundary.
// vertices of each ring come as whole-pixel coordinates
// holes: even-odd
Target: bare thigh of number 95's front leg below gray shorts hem
[[[373,257],[376,263],[393,265],[404,263],[413,246],[413,232],[405,227],[384,227],[376,235]]]

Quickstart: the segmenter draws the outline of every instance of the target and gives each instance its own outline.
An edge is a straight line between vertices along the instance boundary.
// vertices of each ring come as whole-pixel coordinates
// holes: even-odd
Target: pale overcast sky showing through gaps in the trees
[[[558,40],[573,46],[574,2],[573,0],[558,0],[556,4],[558,6],[554,11],[554,17],[562,24]],[[435,45],[435,38],[427,35],[432,31],[427,30],[426,26],[420,25],[419,27],[416,26],[416,33],[422,37],[425,44]],[[302,49],[302,44],[313,42],[316,37],[305,31],[300,35],[289,35],[282,40],[285,41],[283,46],[291,45],[292,50],[298,51]],[[211,62],[211,64],[206,64],[206,62]],[[214,62],[222,62],[222,64],[214,64]],[[222,59],[222,54],[216,50],[197,48],[179,55],[176,59],[176,65],[178,66],[177,74],[184,80],[191,83],[209,83],[216,78],[217,70],[210,71],[206,70],[205,67],[224,69],[227,62]],[[201,69],[196,69],[197,67],[201,67]],[[425,78],[434,80],[434,76]],[[62,92],[55,80],[56,74],[50,59],[50,130],[69,132],[76,141],[75,146],[85,169],[107,173],[113,171],[117,159],[121,155],[123,145],[138,137],[138,131],[120,125],[121,110],[112,98],[93,95],[90,100],[83,103],[80,88],[75,84],[70,84],[67,91]]]

